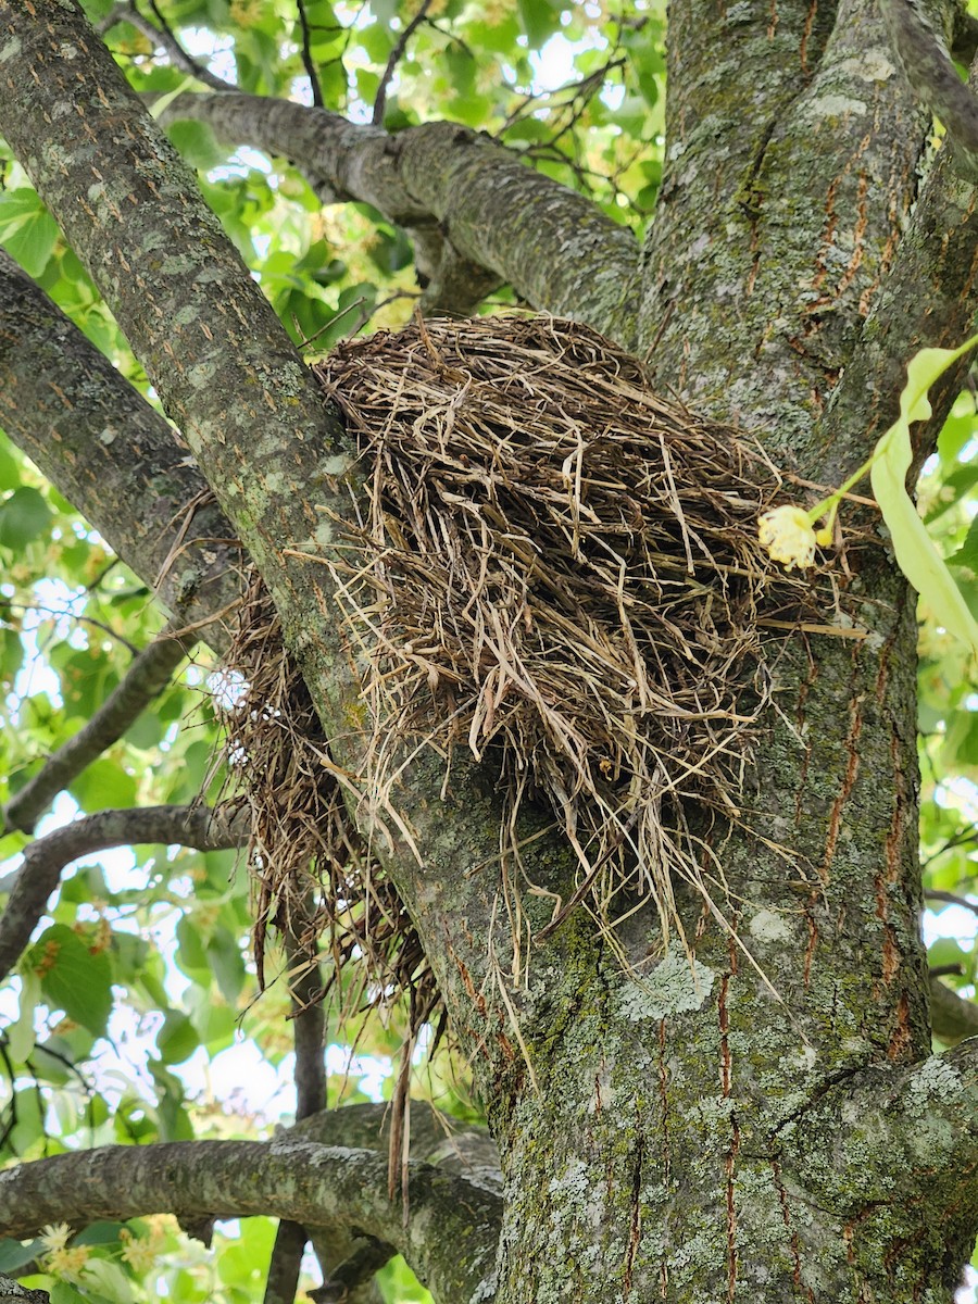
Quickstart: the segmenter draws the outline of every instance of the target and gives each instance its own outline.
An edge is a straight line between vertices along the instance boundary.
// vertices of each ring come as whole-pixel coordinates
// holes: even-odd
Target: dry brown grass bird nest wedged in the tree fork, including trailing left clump
[[[814,605],[811,583],[773,570],[758,542],[776,469],[576,323],[419,322],[342,344],[317,370],[366,493],[330,565],[369,707],[360,784],[372,806],[396,806],[406,748],[463,747],[494,767],[510,816],[546,801],[574,849],[578,888],[550,926],[579,901],[613,922],[615,902],[638,897],[668,931],[678,879],[712,905],[722,875],[709,828],[739,819],[769,698],[765,644]],[[240,649],[236,664],[250,682]],[[303,730],[316,733],[305,702]],[[257,716],[280,735],[278,703]],[[347,953],[372,953],[364,932],[383,923],[387,973],[402,945],[417,966],[409,921],[336,814],[316,748],[318,734],[304,762],[291,739],[282,759],[327,794],[327,819],[304,816],[312,841],[343,829],[314,850],[333,866],[334,939],[347,928]],[[293,819],[267,814],[292,778],[262,784],[270,900],[275,866],[295,867],[309,845]]]

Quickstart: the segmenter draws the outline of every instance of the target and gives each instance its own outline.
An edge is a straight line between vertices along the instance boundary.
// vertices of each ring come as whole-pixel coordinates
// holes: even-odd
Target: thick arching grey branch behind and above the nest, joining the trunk
[[[181,95],[168,115],[291,159],[325,202],[360,200],[409,230],[437,228],[455,257],[507,282],[533,308],[588,322],[626,347],[634,340],[635,237],[485,136],[451,123],[389,136],[241,93]]]

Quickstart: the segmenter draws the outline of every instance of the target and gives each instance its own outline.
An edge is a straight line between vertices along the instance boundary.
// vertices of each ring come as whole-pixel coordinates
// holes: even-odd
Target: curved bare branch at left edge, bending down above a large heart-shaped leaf
[[[241,846],[246,832],[233,811],[206,806],[143,806],[87,815],[31,842],[0,915],[0,977],[17,964],[65,866],[108,846],[162,842],[201,852]]]

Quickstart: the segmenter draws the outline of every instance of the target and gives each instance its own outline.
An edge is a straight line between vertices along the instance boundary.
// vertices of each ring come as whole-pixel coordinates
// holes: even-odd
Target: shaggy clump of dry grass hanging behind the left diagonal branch
[[[394,992],[409,992],[411,1041],[438,1005],[434,978],[407,910],[349,819],[334,772],[323,765],[326,735],[258,576],[243,602],[223,683],[215,687],[227,786],[250,814],[259,990],[266,986],[270,925],[286,939],[293,995],[308,990],[301,970],[318,962],[317,943],[325,936],[319,998],[334,1000],[343,1022]]]

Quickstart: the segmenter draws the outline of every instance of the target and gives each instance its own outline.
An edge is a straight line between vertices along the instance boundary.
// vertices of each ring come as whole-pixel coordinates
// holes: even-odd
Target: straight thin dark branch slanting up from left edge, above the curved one
[[[48,756],[42,769],[10,798],[1,812],[4,832],[17,829],[33,833],[53,798],[117,742],[167,687],[196,642],[193,638],[175,638],[170,630],[173,630],[172,625],[140,652],[93,717]]]

